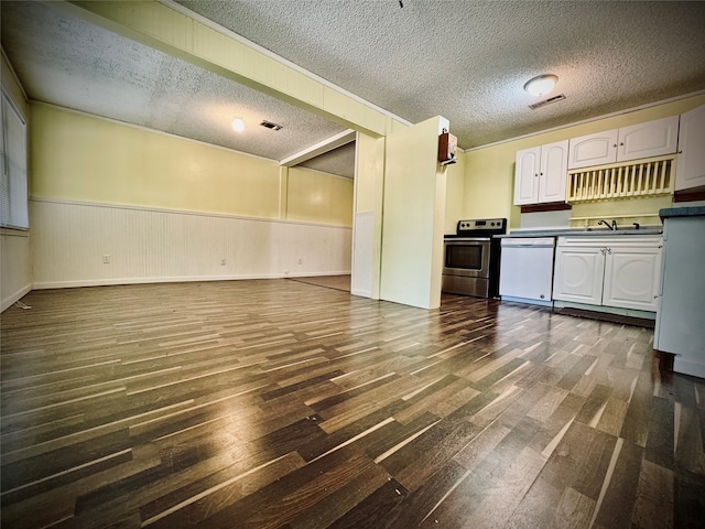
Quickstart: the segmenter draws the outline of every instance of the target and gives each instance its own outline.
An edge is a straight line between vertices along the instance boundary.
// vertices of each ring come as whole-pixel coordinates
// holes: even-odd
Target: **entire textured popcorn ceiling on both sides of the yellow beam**
[[[405,120],[449,119],[464,149],[705,89],[705,2],[178,3]],[[2,45],[33,99],[257,155],[341,130],[46,4],[2,2]],[[531,110],[522,86],[544,73],[566,99]],[[236,137],[234,115],[284,129]],[[340,151],[308,164],[350,175]]]

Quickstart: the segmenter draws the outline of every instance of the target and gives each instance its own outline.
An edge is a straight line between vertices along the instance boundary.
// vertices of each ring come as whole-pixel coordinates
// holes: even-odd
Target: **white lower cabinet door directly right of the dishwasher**
[[[553,299],[599,305],[604,273],[603,248],[560,246],[555,255]]]

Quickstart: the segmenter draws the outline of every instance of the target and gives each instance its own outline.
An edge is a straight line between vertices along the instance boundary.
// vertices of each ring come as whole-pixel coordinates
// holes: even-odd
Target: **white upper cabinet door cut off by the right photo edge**
[[[675,191],[705,185],[705,105],[681,115]]]

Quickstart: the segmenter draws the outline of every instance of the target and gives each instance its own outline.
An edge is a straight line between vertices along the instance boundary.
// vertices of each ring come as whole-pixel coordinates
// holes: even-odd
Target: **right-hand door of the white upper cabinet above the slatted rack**
[[[675,152],[677,139],[677,116],[622,127],[619,129],[617,161],[670,154]]]

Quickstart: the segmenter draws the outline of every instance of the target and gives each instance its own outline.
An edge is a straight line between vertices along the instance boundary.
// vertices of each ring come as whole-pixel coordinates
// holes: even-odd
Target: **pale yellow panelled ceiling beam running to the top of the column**
[[[154,0],[43,3],[372,137],[408,125],[185,9]]]

